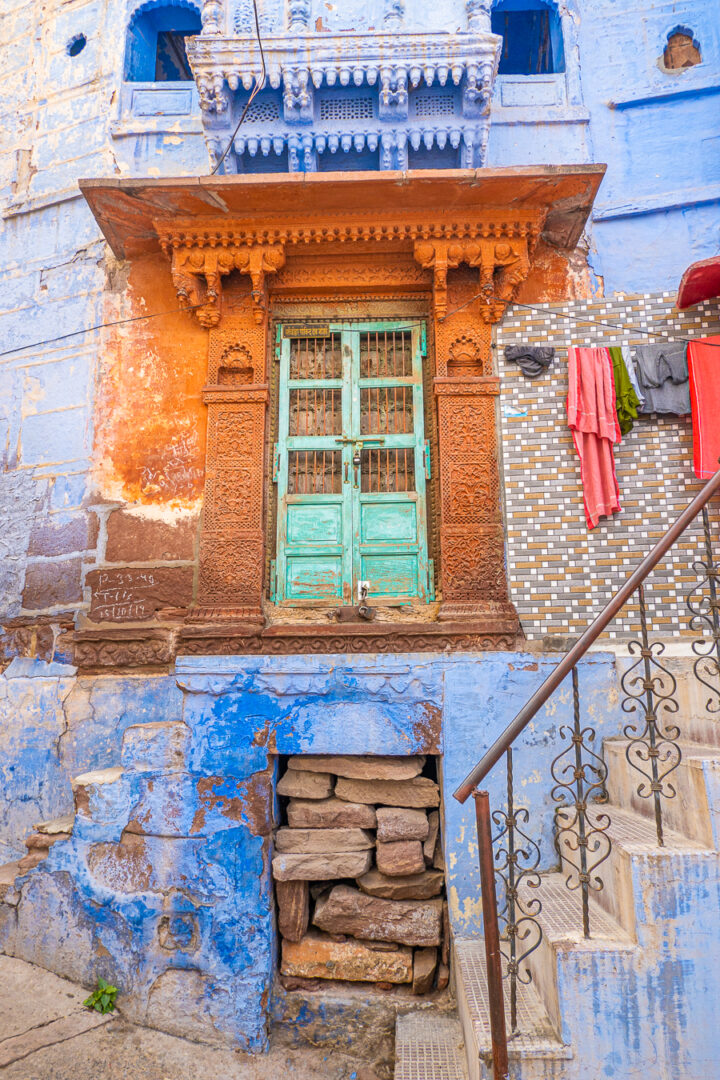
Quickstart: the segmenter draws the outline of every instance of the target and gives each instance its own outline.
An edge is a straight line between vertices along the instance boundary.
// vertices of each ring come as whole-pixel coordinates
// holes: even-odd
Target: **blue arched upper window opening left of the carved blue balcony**
[[[192,71],[185,41],[201,28],[200,13],[187,0],[142,4],[127,27],[127,82],[189,82]]]

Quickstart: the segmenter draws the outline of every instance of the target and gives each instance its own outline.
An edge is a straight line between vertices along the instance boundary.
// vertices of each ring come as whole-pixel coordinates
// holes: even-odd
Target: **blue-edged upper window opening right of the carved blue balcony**
[[[543,0],[499,0],[491,25],[503,39],[500,75],[565,71],[562,26],[555,6]]]

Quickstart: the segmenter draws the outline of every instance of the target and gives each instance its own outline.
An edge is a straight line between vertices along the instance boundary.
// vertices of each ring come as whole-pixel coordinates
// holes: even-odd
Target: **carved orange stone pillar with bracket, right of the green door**
[[[527,274],[527,237],[422,241],[415,255],[433,271],[435,298],[439,618],[512,618],[498,468],[500,386],[492,375],[490,338],[491,323]]]

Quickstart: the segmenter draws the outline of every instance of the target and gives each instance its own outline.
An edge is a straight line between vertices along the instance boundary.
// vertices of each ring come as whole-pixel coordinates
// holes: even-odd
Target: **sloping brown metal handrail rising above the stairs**
[[[467,773],[458,789],[453,792],[453,797],[459,802],[464,802],[477,787],[478,783],[488,774],[490,769],[497,765],[500,758],[515,742],[521,731],[528,726],[535,713],[545,704],[551,694],[558,688],[560,683],[572,671],[579,660],[585,656],[590,645],[593,645],[611,622],[626,600],[633,595],[638,585],[641,585],[651,570],[653,570],[662,557],[669,551],[676,540],[684,532],[690,523],[697,516],[704,507],[710,501],[715,492],[720,488],[720,469],[697,492],[692,502],[685,507],[680,516],[669,527],[667,532],[655,546],[642,559],[634,573],[626,579],[625,584],[617,590],[615,595],[606,604],[600,615],[584,631],[582,636],[575,642],[569,652],[565,654],[557,667],[551,672],[540,689],[535,690],[532,698],[522,706],[512,724],[508,724],[503,733],[495,739],[489,751],[478,761],[475,768]]]

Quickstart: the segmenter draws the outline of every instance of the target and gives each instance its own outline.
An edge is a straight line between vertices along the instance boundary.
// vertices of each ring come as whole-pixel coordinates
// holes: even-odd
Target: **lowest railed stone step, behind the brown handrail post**
[[[462,1024],[470,1080],[491,1080],[492,1049],[490,1008],[483,941],[454,943],[458,1012]],[[505,1015],[510,1023],[510,987],[505,990]],[[562,1080],[572,1050],[557,1037],[551,1018],[532,985],[518,984],[518,1034],[508,1039],[512,1080]]]

